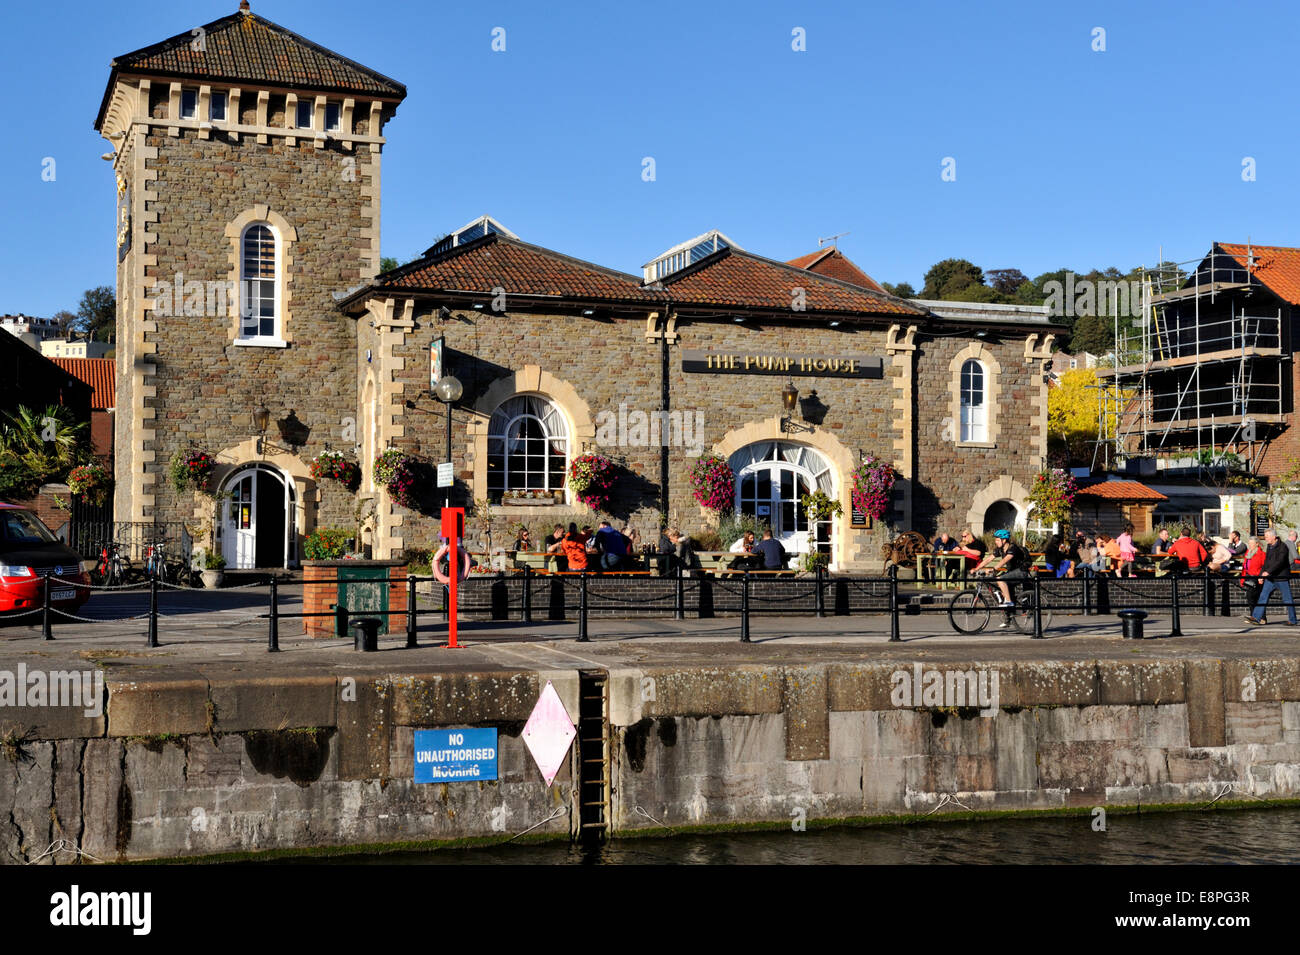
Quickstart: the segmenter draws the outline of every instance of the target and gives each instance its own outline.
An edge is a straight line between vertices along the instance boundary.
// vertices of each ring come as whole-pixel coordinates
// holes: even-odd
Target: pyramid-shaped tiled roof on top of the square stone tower
[[[269,19],[233,13],[113,60],[113,73],[194,77],[406,97],[406,87]],[[202,36],[203,49],[194,44]],[[112,88],[113,78],[109,79]]]

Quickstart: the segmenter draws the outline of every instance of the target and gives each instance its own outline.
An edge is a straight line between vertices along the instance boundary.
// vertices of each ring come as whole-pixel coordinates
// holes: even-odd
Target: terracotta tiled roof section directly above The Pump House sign
[[[734,248],[722,249],[663,279],[673,301],[790,312],[793,290],[803,288],[807,312],[923,316],[926,312],[881,291],[809,273],[786,262]],[[792,314],[798,316],[798,312]]]

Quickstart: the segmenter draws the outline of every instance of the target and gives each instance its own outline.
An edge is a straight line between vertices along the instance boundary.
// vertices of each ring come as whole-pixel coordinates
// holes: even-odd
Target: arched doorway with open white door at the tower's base
[[[235,468],[222,483],[221,554],[226,567],[294,567],[296,491],[278,468],[259,463]]]

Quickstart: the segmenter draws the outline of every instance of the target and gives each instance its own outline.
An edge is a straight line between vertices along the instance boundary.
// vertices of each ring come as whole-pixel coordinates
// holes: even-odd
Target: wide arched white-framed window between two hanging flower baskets
[[[562,498],[568,469],[568,424],[538,395],[502,401],[488,422],[488,499]]]

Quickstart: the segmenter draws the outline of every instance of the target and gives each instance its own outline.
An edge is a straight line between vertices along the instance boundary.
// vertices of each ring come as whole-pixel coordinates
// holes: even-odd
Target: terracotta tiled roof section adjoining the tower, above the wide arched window
[[[658,301],[641,279],[493,233],[429,255],[376,279],[380,288],[554,296],[575,300]]]

